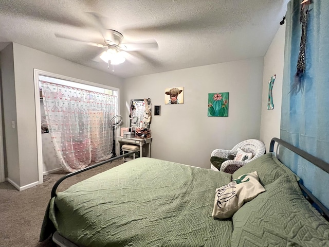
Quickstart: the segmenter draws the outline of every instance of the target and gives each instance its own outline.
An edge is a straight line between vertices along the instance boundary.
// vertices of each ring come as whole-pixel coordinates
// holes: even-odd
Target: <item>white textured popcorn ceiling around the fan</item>
[[[123,34],[123,43],[155,39],[158,49],[134,51],[138,59],[114,66],[127,78],[169,70],[261,57],[289,0],[0,0],[0,50],[15,42],[103,70],[93,59],[104,48],[100,25]]]

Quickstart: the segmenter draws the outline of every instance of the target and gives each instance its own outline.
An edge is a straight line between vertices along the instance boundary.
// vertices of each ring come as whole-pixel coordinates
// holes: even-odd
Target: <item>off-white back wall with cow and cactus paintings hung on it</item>
[[[212,150],[258,139],[263,66],[263,58],[253,58],[125,79],[128,107],[130,99],[151,99],[151,157],[210,168]],[[165,89],[178,86],[184,86],[184,104],[165,105]],[[218,92],[230,93],[228,117],[207,116],[208,93]],[[154,105],[161,105],[161,116],[153,115]]]

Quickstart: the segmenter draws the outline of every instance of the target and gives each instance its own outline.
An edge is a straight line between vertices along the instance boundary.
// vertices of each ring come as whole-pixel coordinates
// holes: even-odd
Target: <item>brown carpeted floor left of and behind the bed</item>
[[[60,184],[57,191],[122,163],[121,159],[116,160],[70,177]],[[65,174],[59,171],[46,175],[43,184],[23,191],[16,190],[8,182],[0,183],[0,246],[56,246],[51,239],[40,243],[39,234],[51,188]]]

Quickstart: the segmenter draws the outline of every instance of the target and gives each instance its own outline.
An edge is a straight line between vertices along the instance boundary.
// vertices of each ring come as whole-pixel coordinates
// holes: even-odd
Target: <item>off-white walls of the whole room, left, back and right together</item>
[[[247,138],[260,138],[268,150],[269,140],[280,136],[284,36],[281,26],[264,61],[253,58],[180,69],[125,79],[125,83],[20,44],[9,45],[1,52],[8,178],[19,186],[38,180],[33,68],[118,87],[125,117],[122,126],[129,125],[130,99],[151,98],[152,115],[154,105],[161,105],[161,116],[152,116],[152,157],[209,168],[213,149],[230,149]],[[277,75],[275,109],[267,111],[267,83],[273,74]],[[165,105],[165,89],[175,86],[184,86],[184,104]],[[207,116],[208,93],[215,92],[230,93],[229,117]]]

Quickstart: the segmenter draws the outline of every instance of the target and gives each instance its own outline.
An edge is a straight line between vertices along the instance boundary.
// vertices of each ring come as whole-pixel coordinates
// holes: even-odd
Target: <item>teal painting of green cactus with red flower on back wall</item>
[[[208,117],[228,117],[229,93],[208,94]]]

